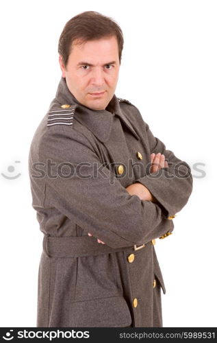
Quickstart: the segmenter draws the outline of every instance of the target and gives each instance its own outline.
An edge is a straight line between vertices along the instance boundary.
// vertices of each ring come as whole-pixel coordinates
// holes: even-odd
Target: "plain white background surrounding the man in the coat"
[[[86,10],[123,29],[116,95],[135,104],[153,134],[192,167],[192,196],[173,235],[155,246],[166,285],[164,327],[216,327],[217,3],[209,0],[1,1],[0,173],[21,176],[0,174],[0,326],[36,327],[43,235],[31,207],[29,146],[61,77],[64,24]]]

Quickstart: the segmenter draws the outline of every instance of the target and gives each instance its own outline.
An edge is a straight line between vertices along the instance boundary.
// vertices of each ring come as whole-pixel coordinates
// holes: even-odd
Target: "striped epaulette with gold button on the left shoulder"
[[[73,117],[77,104],[53,104],[47,113],[47,126],[54,125],[73,125]]]

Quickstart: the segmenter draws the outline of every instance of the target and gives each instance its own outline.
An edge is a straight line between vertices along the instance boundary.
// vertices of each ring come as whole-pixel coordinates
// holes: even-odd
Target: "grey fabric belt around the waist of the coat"
[[[144,248],[151,241],[140,246],[124,246],[111,248],[97,242],[96,238],[90,236],[81,237],[52,237],[44,235],[43,251],[49,257],[87,257],[94,255],[109,254],[119,251],[135,251]]]

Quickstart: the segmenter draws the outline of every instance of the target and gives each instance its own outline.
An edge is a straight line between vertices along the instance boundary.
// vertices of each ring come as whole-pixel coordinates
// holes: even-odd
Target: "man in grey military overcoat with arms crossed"
[[[187,163],[114,94],[123,34],[84,12],[60,36],[62,78],[29,151],[44,233],[37,327],[162,327],[155,239],[188,202]]]

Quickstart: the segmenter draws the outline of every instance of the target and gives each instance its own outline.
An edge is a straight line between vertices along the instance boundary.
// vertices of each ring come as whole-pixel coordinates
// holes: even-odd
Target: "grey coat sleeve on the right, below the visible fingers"
[[[144,177],[138,178],[136,182],[142,183],[149,189],[159,202],[166,217],[173,217],[185,206],[192,193],[190,166],[177,158],[172,151],[166,150],[164,143],[153,136],[149,125],[144,124],[146,127],[144,134],[149,142],[151,154],[153,152],[164,154],[166,161],[168,161],[168,167],[159,169],[155,173],[147,172]]]

